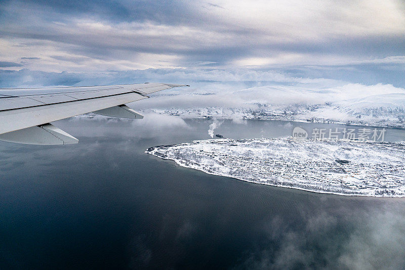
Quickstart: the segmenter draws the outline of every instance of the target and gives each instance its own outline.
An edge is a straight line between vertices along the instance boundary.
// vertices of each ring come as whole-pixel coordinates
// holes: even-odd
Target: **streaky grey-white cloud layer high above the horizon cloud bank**
[[[41,59],[27,68],[59,72],[403,64],[404,15],[397,0],[9,0],[0,10],[0,57],[16,62],[34,51]]]

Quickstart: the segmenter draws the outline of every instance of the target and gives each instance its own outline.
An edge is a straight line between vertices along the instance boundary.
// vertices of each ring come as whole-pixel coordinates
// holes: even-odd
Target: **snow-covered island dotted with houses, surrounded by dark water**
[[[145,151],[203,172],[321,193],[405,197],[405,144],[296,138],[214,139]]]

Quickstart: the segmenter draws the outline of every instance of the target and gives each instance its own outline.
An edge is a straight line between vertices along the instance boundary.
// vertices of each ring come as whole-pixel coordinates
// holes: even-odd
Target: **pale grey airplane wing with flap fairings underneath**
[[[50,122],[95,112],[142,119],[125,103],[185,85],[133,84],[90,87],[0,90],[0,140],[26,144],[71,144],[78,140]],[[27,91],[29,90],[29,91]],[[18,94],[16,94],[18,93]],[[42,94],[38,94],[42,93]]]

